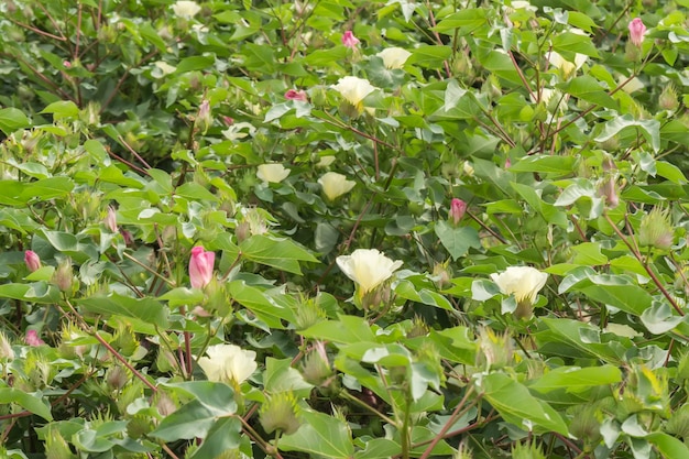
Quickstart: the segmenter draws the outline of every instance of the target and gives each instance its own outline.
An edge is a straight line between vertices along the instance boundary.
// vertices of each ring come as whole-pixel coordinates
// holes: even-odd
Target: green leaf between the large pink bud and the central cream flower
[[[299,261],[318,263],[308,250],[291,239],[256,234],[239,244],[242,256],[293,274],[302,274]]]

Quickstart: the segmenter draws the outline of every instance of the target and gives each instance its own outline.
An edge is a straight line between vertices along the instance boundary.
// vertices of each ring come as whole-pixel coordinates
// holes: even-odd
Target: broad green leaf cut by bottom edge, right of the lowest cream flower
[[[283,451],[303,451],[316,457],[350,459],[354,453],[347,424],[317,412],[303,412],[302,426],[280,439]]]

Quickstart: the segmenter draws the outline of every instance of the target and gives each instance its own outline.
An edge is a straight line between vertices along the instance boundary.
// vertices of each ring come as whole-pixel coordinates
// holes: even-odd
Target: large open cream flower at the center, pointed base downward
[[[351,255],[337,258],[337,265],[354,281],[365,295],[387,281],[402,266],[402,261],[392,261],[376,249],[357,249]]]

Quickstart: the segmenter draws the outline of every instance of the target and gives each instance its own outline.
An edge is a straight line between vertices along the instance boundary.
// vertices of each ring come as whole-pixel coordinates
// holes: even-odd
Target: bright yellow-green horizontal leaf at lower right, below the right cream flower
[[[582,392],[597,385],[622,382],[622,372],[617,367],[560,367],[550,370],[528,387],[542,393],[565,389],[567,392]]]

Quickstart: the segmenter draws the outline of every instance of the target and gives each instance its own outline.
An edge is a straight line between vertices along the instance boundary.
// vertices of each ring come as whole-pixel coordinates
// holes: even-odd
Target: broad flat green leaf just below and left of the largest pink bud
[[[167,308],[151,297],[133,298],[112,293],[109,296],[91,296],[78,299],[77,304],[89,313],[101,314],[106,317],[133,317],[161,328],[167,328]]]

